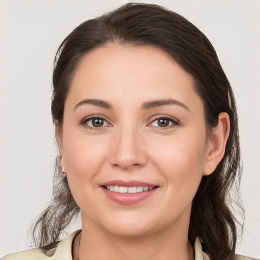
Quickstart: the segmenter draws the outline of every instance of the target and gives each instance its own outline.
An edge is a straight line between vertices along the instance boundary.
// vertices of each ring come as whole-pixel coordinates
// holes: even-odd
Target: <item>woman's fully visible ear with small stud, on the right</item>
[[[214,172],[225,153],[226,141],[230,134],[230,117],[222,112],[218,115],[218,125],[213,128],[208,140],[207,153],[203,175],[210,175]]]

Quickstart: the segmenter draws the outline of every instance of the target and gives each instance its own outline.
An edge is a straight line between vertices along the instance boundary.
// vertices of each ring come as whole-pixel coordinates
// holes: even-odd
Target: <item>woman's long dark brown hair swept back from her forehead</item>
[[[109,42],[153,46],[176,60],[193,76],[208,133],[217,125],[219,113],[229,114],[231,129],[224,157],[214,173],[202,178],[192,203],[188,238],[193,244],[199,236],[212,260],[234,259],[236,218],[229,203],[231,187],[238,189],[241,174],[238,122],[233,91],[213,46],[185,18],[152,4],[128,3],[83,22],[64,39],[54,60],[51,110],[53,121],[61,128],[64,102],[79,62],[86,53]],[[79,212],[57,160],[53,199],[33,230],[37,245],[57,241]]]

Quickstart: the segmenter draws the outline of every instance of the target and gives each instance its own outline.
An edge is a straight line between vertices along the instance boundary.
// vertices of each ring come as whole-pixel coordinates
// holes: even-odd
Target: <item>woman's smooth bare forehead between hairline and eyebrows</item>
[[[83,57],[68,98],[99,98],[127,103],[197,96],[193,78],[167,53],[150,46],[108,44]]]

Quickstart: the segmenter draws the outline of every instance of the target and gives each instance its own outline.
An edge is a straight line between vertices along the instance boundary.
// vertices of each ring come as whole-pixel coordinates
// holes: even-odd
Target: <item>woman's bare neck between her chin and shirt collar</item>
[[[146,236],[122,237],[102,230],[95,223],[84,225],[83,221],[82,233],[74,242],[73,259],[193,260],[194,250],[188,240],[188,231],[183,232],[182,228],[168,228]]]

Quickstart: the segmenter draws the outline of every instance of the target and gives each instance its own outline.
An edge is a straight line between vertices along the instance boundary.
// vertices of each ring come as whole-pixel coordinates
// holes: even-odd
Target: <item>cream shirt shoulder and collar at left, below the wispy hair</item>
[[[58,243],[8,254],[0,260],[71,260],[73,240],[80,232],[81,230],[75,231]]]

